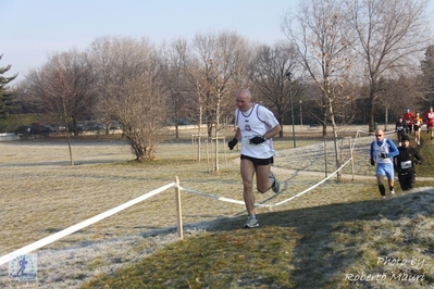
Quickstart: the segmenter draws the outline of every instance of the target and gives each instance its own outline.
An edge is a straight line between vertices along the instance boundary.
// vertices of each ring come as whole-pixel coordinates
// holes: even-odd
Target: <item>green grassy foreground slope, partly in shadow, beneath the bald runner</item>
[[[422,137],[417,172],[432,177],[434,147]],[[82,288],[433,288],[433,181],[384,200],[374,177],[351,184],[349,201],[265,212],[255,229],[240,228],[245,216],[222,218]]]

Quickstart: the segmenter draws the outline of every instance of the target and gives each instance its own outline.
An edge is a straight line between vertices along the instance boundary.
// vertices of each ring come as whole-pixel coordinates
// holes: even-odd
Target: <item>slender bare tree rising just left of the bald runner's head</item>
[[[247,41],[234,33],[219,35],[196,35],[193,40],[194,54],[187,64],[187,74],[191,85],[196,88],[198,104],[202,111],[208,136],[219,135],[220,120],[227,110],[227,103],[234,93],[234,79],[247,75],[250,60]],[[239,87],[238,87],[239,88]]]

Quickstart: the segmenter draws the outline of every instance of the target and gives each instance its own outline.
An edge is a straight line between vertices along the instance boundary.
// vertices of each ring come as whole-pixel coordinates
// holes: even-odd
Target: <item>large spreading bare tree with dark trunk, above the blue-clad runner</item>
[[[369,83],[369,130],[381,97],[380,79],[418,67],[417,58],[429,42],[427,0],[345,0],[350,27],[357,36],[354,49],[364,60]]]

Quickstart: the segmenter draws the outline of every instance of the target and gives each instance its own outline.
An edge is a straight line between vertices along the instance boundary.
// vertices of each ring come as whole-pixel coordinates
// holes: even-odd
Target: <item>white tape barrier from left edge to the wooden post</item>
[[[163,186],[163,187],[161,187],[159,189],[156,189],[153,191],[145,193],[145,194],[142,194],[140,197],[137,197],[136,199],[133,199],[133,200],[131,200],[131,201],[128,201],[126,203],[117,205],[116,208],[113,208],[113,209],[111,209],[109,211],[106,211],[106,212],[99,214],[99,215],[96,215],[96,216],[94,216],[91,218],[88,218],[88,219],[86,219],[86,221],[84,221],[82,223],[75,224],[74,226],[71,226],[71,227],[69,227],[66,229],[63,229],[61,231],[58,231],[58,233],[55,233],[53,235],[50,235],[50,236],[44,238],[44,239],[40,239],[39,241],[33,242],[33,243],[30,243],[30,244],[28,244],[26,247],[23,247],[23,248],[21,248],[18,250],[15,250],[12,253],[5,254],[5,255],[0,257],[0,265],[3,265],[4,263],[8,263],[8,262],[12,261],[12,260],[14,260],[15,257],[17,257],[20,255],[27,254],[27,253],[29,253],[32,251],[35,251],[36,249],[39,249],[39,248],[41,248],[44,246],[52,243],[52,242],[54,242],[54,241],[57,241],[57,240],[59,240],[59,239],[61,239],[63,237],[66,237],[66,236],[71,235],[71,234],[73,234],[73,233],[75,233],[77,230],[80,230],[80,229],[83,229],[83,228],[85,228],[87,226],[90,226],[94,223],[97,223],[97,222],[99,222],[99,221],[101,221],[103,218],[107,218],[107,217],[109,217],[109,216],[111,216],[111,215],[113,215],[113,214],[115,214],[115,213],[117,213],[117,212],[120,212],[122,210],[125,210],[125,209],[127,209],[127,208],[129,208],[129,206],[132,206],[132,205],[134,205],[136,203],[145,201],[146,199],[149,199],[152,196],[156,196],[157,193],[160,193],[160,192],[173,187],[174,185],[175,185],[175,183],[165,185],[165,186]]]

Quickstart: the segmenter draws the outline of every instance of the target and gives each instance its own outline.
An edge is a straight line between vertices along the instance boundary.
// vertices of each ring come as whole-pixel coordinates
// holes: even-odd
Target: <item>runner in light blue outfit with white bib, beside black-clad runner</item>
[[[390,194],[395,193],[394,156],[398,155],[399,151],[392,140],[384,138],[383,129],[376,129],[375,138],[376,140],[371,143],[371,165],[375,165],[376,163],[376,183],[379,184],[381,196],[385,198],[386,189],[383,185],[384,176],[387,177]]]

